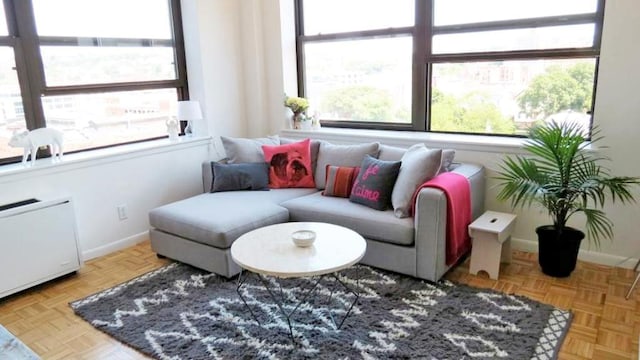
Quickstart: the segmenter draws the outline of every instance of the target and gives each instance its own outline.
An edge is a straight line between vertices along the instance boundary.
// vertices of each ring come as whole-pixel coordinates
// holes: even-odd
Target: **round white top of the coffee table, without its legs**
[[[313,245],[296,246],[291,234],[298,230],[314,231]],[[231,258],[242,268],[259,274],[304,277],[348,268],[362,259],[366,249],[364,238],[345,227],[290,222],[265,226],[240,236],[231,245]]]

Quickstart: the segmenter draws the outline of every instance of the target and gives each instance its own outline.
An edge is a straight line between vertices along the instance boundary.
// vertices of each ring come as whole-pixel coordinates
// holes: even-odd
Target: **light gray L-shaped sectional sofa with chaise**
[[[249,141],[254,144],[245,142],[247,147],[287,142],[277,137]],[[242,160],[243,154],[238,156],[239,150],[255,153],[255,148],[238,149],[242,144],[225,144],[232,161]],[[323,157],[322,149],[321,142],[312,143],[316,180],[324,177],[324,172],[317,170],[324,169],[327,161],[341,161],[335,156],[333,160]],[[344,149],[349,151],[347,147]],[[332,151],[335,155],[335,151],[341,150],[333,147]],[[375,155],[385,160],[400,160],[404,151],[378,144]],[[470,163],[453,163],[448,167],[443,171],[457,172],[469,180],[472,219],[477,218],[484,211],[484,168]],[[342,225],[360,233],[367,241],[363,264],[432,281],[437,281],[449,270],[445,263],[447,200],[441,190],[423,188],[416,197],[415,215],[398,218],[393,209],[379,211],[346,198],[323,196],[320,191],[324,187],[323,181],[316,181],[320,189],[209,193],[211,176],[211,165],[203,164],[203,194],[149,213],[151,245],[159,255],[231,277],[240,271],[230,255],[231,244],[239,236],[271,224],[314,221]]]

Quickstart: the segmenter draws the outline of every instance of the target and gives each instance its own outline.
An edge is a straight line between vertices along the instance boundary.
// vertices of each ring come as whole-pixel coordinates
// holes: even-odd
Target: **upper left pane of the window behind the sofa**
[[[414,0],[305,0],[304,34],[413,26]]]

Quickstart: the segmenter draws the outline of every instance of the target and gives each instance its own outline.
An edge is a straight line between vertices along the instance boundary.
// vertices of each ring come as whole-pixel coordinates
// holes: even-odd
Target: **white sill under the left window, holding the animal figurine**
[[[0,166],[0,183],[17,181],[35,175],[54,174],[141,156],[204,146],[210,143],[211,137],[208,136],[180,137],[177,141],[160,139],[64,155],[61,161],[56,162],[52,158],[37,159],[34,166],[30,165],[30,161],[27,162],[27,165],[22,163],[2,165]]]

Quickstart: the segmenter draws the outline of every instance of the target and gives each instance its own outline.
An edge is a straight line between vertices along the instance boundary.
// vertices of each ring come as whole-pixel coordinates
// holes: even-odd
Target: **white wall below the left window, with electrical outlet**
[[[201,141],[95,162],[74,163],[73,157],[66,156],[67,162],[56,167],[0,173],[0,204],[32,197],[71,196],[86,260],[146,239],[149,210],[201,193],[200,164],[209,152],[208,141]],[[118,218],[117,206],[121,204],[128,208],[124,221]]]

